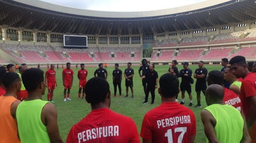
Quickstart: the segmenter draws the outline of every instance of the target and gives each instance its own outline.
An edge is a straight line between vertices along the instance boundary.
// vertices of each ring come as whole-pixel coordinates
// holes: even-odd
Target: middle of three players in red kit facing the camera
[[[67,100],[71,100],[69,98],[69,94],[70,94],[70,89],[73,85],[74,72],[73,70],[70,69],[70,66],[71,66],[71,63],[67,63],[67,68],[65,68],[62,71],[62,81],[64,86],[64,102]],[[67,94],[67,99],[66,99],[66,94]]]

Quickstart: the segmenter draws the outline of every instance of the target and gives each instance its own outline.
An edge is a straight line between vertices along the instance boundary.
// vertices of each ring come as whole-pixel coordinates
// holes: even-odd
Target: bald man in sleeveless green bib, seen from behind
[[[244,137],[245,142],[250,143],[247,125],[240,112],[231,105],[224,105],[223,97],[221,85],[211,84],[205,91],[208,107],[201,112],[201,119],[207,139],[210,143],[239,143]]]

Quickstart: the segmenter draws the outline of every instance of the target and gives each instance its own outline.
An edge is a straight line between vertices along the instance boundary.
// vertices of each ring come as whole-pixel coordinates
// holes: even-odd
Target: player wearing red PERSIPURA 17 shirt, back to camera
[[[140,132],[143,143],[194,143],[196,118],[191,109],[176,102],[178,78],[166,73],[159,84],[162,104],[144,116]]]

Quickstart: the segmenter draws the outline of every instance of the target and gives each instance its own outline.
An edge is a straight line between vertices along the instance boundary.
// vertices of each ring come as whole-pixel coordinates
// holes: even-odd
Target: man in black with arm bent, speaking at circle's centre
[[[158,73],[154,70],[154,64],[149,66],[149,71],[145,75],[143,75],[142,80],[147,77],[147,89],[146,89],[146,97],[143,104],[148,103],[149,92],[151,93],[152,101],[151,104],[154,104],[155,99],[155,89],[157,88],[158,83]]]

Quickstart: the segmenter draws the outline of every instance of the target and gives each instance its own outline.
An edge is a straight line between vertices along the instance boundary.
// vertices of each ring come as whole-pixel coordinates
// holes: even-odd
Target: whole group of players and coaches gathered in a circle
[[[228,63],[230,66],[228,66]],[[194,143],[196,136],[196,118],[188,107],[185,107],[185,91],[189,95],[189,107],[193,104],[191,95],[192,70],[189,63],[184,62],[183,69],[178,71],[177,61],[172,61],[168,73],[159,78],[154,64],[142,60],[139,75],[142,79],[145,100],[148,103],[151,93],[151,104],[154,104],[155,89],[161,97],[162,104],[147,112],[142,121],[140,136],[143,143]],[[254,65],[254,64],[252,64]],[[73,86],[74,72],[70,63],[62,71],[64,86],[64,102],[69,98]],[[91,112],[80,122],[73,125],[67,136],[67,143],[140,143],[135,122],[132,118],[115,113],[109,109],[111,93],[107,82],[107,70],[103,64],[95,70],[93,78],[87,81],[87,70],[81,64],[78,71],[78,100],[85,98],[91,104]],[[197,105],[201,107],[202,91],[207,107],[201,112],[207,142],[210,143],[256,143],[256,73],[255,67],[247,67],[245,57],[236,56],[229,62],[222,59],[221,71],[208,73],[199,61],[199,68],[194,72],[196,79]],[[122,96],[122,70],[115,64],[113,70],[114,95],[117,87],[119,97]],[[38,68],[27,69],[7,65],[7,71],[0,67],[0,142],[1,143],[62,143],[60,138],[57,111],[53,101],[56,82],[54,65],[44,72]],[[142,71],[142,74],[141,74]],[[131,63],[123,72],[126,95],[133,94],[134,70]],[[181,78],[181,82],[178,78]],[[207,86],[208,85],[208,86]],[[47,100],[42,100],[48,88]],[[21,90],[21,95],[19,95]],[[182,93],[182,101],[178,103],[178,94]],[[19,97],[19,98],[18,98]],[[25,100],[24,100],[25,99]],[[21,102],[22,101],[22,102]]]

